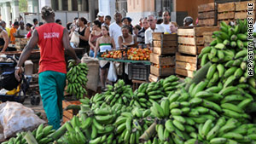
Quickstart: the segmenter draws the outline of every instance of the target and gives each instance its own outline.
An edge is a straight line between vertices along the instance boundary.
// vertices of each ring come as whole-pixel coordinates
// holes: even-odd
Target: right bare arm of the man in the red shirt
[[[73,60],[76,60],[77,63],[80,63],[78,56],[76,55],[74,49],[71,47],[69,43],[68,31],[66,28],[63,30],[62,43],[64,49],[67,51],[67,55],[70,55],[73,58]]]

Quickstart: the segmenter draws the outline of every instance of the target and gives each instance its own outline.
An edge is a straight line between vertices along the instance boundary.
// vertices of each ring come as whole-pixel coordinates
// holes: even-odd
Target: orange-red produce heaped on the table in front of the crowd
[[[150,54],[152,51],[148,48],[145,49],[121,49],[113,50],[102,53],[101,57],[103,58],[113,58],[113,59],[128,59],[128,60],[149,60]]]

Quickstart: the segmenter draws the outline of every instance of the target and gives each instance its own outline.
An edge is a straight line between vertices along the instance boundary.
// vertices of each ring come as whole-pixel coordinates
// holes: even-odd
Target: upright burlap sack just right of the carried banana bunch
[[[86,84],[87,89],[91,89],[96,91],[98,88],[98,81],[99,81],[99,60],[96,58],[91,58],[87,54],[85,54],[82,58],[82,63],[86,63],[89,68],[87,79],[88,82]]]

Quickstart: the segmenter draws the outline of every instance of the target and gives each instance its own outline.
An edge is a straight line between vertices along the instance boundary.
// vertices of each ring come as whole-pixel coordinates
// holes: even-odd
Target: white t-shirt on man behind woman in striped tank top
[[[119,49],[119,36],[122,36],[122,28],[114,22],[109,26],[109,35],[110,37],[113,37],[115,48]]]

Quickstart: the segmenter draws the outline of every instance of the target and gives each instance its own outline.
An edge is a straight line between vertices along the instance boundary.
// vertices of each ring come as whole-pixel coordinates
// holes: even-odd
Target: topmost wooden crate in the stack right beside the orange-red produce
[[[175,54],[177,51],[177,34],[153,33],[153,52],[159,55]]]

